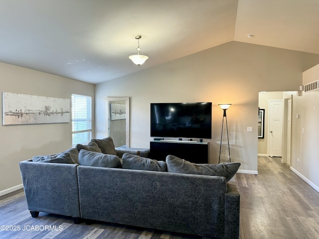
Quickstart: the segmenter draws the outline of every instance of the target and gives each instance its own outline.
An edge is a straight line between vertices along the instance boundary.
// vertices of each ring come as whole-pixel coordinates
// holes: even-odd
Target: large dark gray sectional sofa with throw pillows
[[[75,223],[97,220],[202,237],[239,238],[240,195],[234,173],[226,177],[200,175],[197,171],[202,167],[208,170],[210,165],[174,156],[159,162],[133,155],[132,150],[121,155],[121,167],[116,155],[82,148],[74,159],[76,150],[69,152],[76,163],[57,163],[60,154],[19,163],[32,217],[46,212],[73,217]],[[47,163],[50,158],[55,161]],[[102,158],[107,160],[103,165],[115,167],[102,167]],[[116,161],[112,159],[110,164],[110,158]],[[96,165],[87,166],[85,160]],[[181,169],[186,171],[178,173]]]

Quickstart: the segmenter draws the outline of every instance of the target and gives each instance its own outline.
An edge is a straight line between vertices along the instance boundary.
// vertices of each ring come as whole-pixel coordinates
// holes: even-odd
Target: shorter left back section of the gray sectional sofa
[[[80,217],[77,164],[19,162],[30,211]]]

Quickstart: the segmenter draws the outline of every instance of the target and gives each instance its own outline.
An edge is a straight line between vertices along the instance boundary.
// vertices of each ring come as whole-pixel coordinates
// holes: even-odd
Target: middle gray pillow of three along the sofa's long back
[[[122,161],[122,168],[125,169],[167,172],[167,166],[164,161],[144,158],[130,153],[123,154]]]

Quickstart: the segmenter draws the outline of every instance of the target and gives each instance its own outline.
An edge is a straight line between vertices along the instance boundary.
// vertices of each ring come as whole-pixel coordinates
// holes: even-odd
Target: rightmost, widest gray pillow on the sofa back
[[[167,171],[171,173],[222,176],[228,182],[237,172],[240,163],[196,164],[178,157],[166,156]]]

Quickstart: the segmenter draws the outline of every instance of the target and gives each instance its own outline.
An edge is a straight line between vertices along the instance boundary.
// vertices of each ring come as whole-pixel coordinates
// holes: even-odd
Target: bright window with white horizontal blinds
[[[72,94],[72,145],[92,138],[92,97]]]

